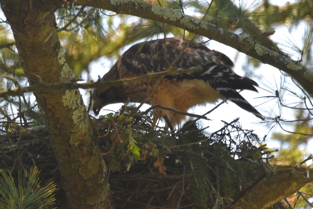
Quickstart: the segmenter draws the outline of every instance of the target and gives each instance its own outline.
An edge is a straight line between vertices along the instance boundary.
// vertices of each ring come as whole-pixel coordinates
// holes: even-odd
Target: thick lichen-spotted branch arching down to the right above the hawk
[[[269,64],[286,73],[289,73],[309,94],[313,94],[313,72],[278,49],[269,48],[269,40],[265,40],[268,47],[252,37],[239,37],[237,34],[224,30],[221,27],[201,21],[195,17],[182,14],[168,8],[147,5],[139,0],[77,0],[76,5],[98,7],[110,10],[117,14],[129,14],[176,26],[189,32],[213,39],[227,46],[233,47],[254,57],[264,64]]]

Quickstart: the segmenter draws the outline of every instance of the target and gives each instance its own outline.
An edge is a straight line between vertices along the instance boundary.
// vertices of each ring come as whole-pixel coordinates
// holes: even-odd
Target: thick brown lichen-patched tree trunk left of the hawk
[[[71,70],[58,39],[54,10],[62,1],[3,0],[19,59],[30,85],[69,82]],[[105,208],[107,171],[78,89],[34,91],[72,208]]]

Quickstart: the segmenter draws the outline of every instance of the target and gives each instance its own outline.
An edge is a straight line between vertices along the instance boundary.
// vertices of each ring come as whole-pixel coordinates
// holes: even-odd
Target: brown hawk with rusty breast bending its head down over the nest
[[[173,65],[174,70],[192,68],[202,70],[165,76],[151,92],[147,104],[151,106],[160,104],[187,112],[191,107],[215,103],[222,99],[230,100],[242,109],[262,118],[262,115],[237,91],[248,89],[258,92],[254,86],[259,85],[233,72],[233,62],[225,54],[182,38],[167,38],[166,41],[158,39],[133,45],[101,78],[101,82],[165,71],[168,63],[172,63],[178,57],[186,44],[189,46]],[[122,86],[95,88],[93,92],[95,115],[98,115],[105,105],[126,102],[128,97],[131,102],[142,102],[157,80],[158,78],[148,78]],[[155,119],[167,116],[172,123],[168,125],[173,126],[185,118],[184,115],[160,108],[153,109],[153,115]]]

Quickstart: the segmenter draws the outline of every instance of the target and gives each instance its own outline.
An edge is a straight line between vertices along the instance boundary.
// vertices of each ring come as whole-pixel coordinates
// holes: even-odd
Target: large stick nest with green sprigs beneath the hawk
[[[133,110],[93,119],[116,208],[229,208],[268,172],[268,152],[238,119],[212,133],[192,121],[167,132],[149,122],[151,112]],[[38,167],[43,185],[59,187],[54,207],[67,208],[47,128],[24,130],[2,133],[0,167],[13,175]]]

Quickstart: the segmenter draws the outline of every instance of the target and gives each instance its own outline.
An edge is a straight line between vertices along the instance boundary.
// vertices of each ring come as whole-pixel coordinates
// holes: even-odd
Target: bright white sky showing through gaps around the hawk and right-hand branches
[[[253,1],[247,1],[247,2],[253,2]],[[269,1],[269,2],[272,4],[275,4],[275,5],[285,5],[285,3],[288,1],[276,0],[276,1]],[[289,2],[293,3],[293,2],[295,2],[295,0],[289,1]],[[289,38],[292,37],[291,40],[293,40],[299,46],[301,46],[302,34],[304,31],[304,28],[305,28],[305,24],[300,23],[297,28],[294,28],[294,30],[291,30],[292,36],[290,36],[290,33],[289,33],[287,27],[279,26],[279,27],[275,28],[275,31],[276,31],[275,34],[273,36],[271,36],[270,38],[272,40],[275,40],[276,42],[283,42],[284,44],[286,44],[288,42],[287,37],[289,37]],[[129,47],[130,46],[126,47],[126,49],[128,49]],[[218,42],[214,42],[214,41],[210,41],[208,44],[208,47],[211,49],[215,49],[217,51],[225,53],[232,60],[234,60],[235,57],[238,56],[237,61],[235,62],[234,71],[239,75],[244,75],[244,71],[242,69],[243,64],[241,64],[241,63],[246,62],[246,55],[245,54],[243,54],[243,53],[238,54],[238,52],[235,49],[228,47],[228,46],[225,46],[225,45],[222,45]],[[126,51],[126,49],[124,51]],[[290,50],[288,50],[288,51],[290,51]],[[115,62],[115,61],[116,60],[110,62],[106,59],[101,59],[99,62],[94,63],[91,67],[93,79],[97,80],[98,74],[100,74],[100,76],[102,77],[105,74],[105,72],[107,72],[110,69],[110,67],[113,66],[113,64],[114,64],[113,62]],[[264,87],[263,83],[266,83],[267,85],[274,85],[275,81],[278,83],[280,81],[281,73],[275,67],[271,67],[269,65],[262,64],[262,66],[260,68],[253,69],[253,72],[255,74],[255,77],[253,77],[253,79],[259,83],[260,87]],[[262,75],[264,78],[260,77],[260,75]],[[255,99],[256,97],[269,96],[268,92],[266,92],[260,88],[258,90],[259,90],[259,94],[256,92],[251,92],[251,91],[243,91],[243,92],[241,92],[241,95],[244,98],[246,98],[253,106],[259,105],[256,107],[256,109],[258,109],[262,114],[264,113],[263,110],[269,111],[270,109],[273,109],[275,114],[279,115],[278,105],[275,102],[268,102],[266,104],[262,104],[266,100]],[[293,98],[291,98],[291,99],[293,99]],[[88,104],[89,102],[85,102],[85,103]],[[110,109],[110,110],[116,111],[120,107],[121,107],[121,104],[113,104],[113,105],[106,106],[105,109]],[[149,107],[148,105],[145,105],[142,107],[142,110],[146,110],[148,107]],[[215,107],[215,105],[209,105],[208,104],[206,107],[197,107],[194,110],[189,110],[188,112],[202,115],[203,113],[207,112],[208,110],[212,109],[213,107]],[[100,112],[100,114],[105,114],[105,112]],[[264,113],[264,115],[266,116],[267,114]],[[293,116],[293,112],[290,112],[290,110],[283,109],[282,115],[283,116],[284,115]],[[208,115],[207,117],[212,119],[212,121],[201,120],[200,122],[201,122],[203,127],[210,126],[207,129],[207,132],[209,132],[209,133],[214,132],[215,130],[218,130],[221,127],[223,127],[224,124],[220,120],[224,120],[226,122],[231,122],[233,119],[235,119],[237,117],[240,117],[240,122],[242,123],[242,127],[244,129],[255,130],[255,132],[259,135],[260,138],[263,138],[265,134],[269,133],[269,130],[267,127],[264,127],[260,124],[257,124],[257,122],[260,122],[260,120],[257,117],[255,117],[253,114],[251,114],[249,112],[242,110],[241,108],[239,108],[238,106],[236,106],[232,102],[229,102],[228,104],[223,104],[216,111],[210,113],[210,115]],[[287,127],[287,129],[288,128],[290,131],[292,131],[292,129],[290,129],[290,127]],[[280,128],[277,128],[276,131],[282,132],[282,130]],[[272,147],[272,148],[279,147],[280,144],[278,142],[275,142],[274,140],[272,140],[270,135],[271,135],[271,133],[269,133],[269,136],[266,138],[265,143],[268,144],[268,147]],[[313,140],[310,141],[309,147],[313,147]]]

